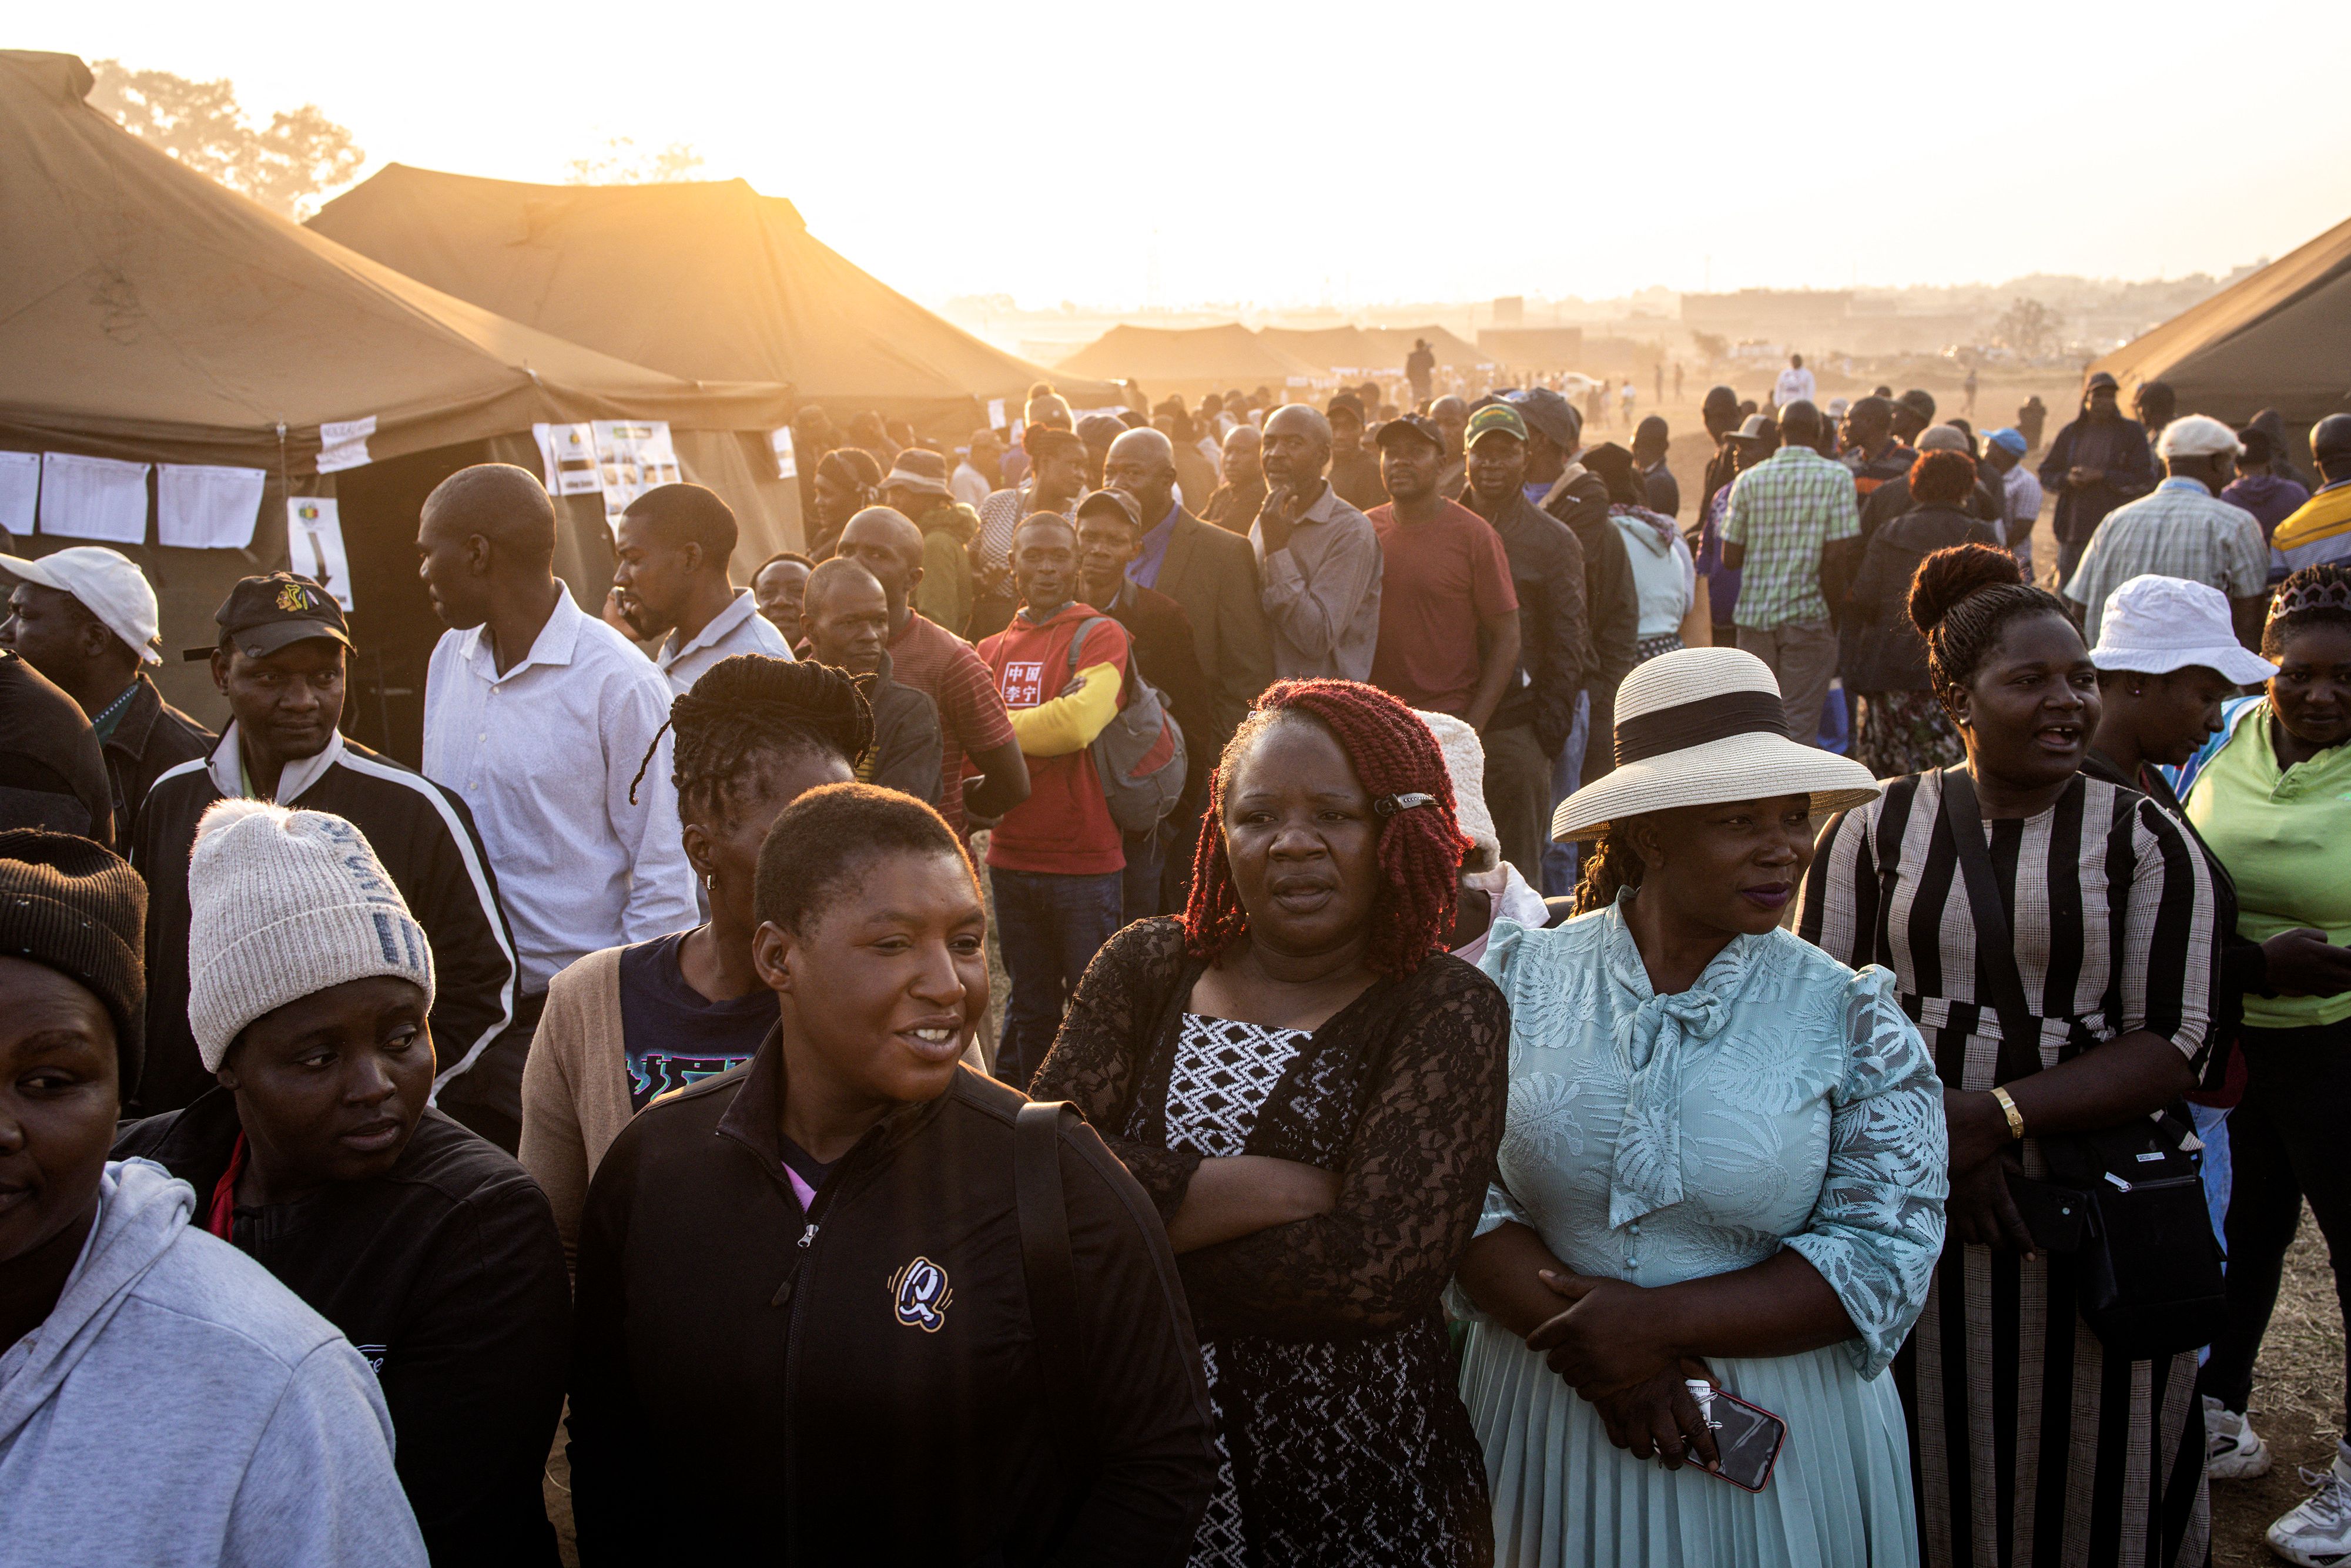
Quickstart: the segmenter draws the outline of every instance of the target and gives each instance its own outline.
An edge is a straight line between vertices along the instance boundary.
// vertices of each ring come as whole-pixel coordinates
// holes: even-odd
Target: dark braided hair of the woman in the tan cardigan
[[[677,813],[689,820],[724,811],[726,797],[762,757],[820,752],[856,769],[875,743],[872,708],[846,670],[766,654],[736,654],[710,665],[694,691],[670,703],[663,729],[677,731],[670,780],[677,785]],[[628,783],[630,802],[658,750],[661,731]]]

